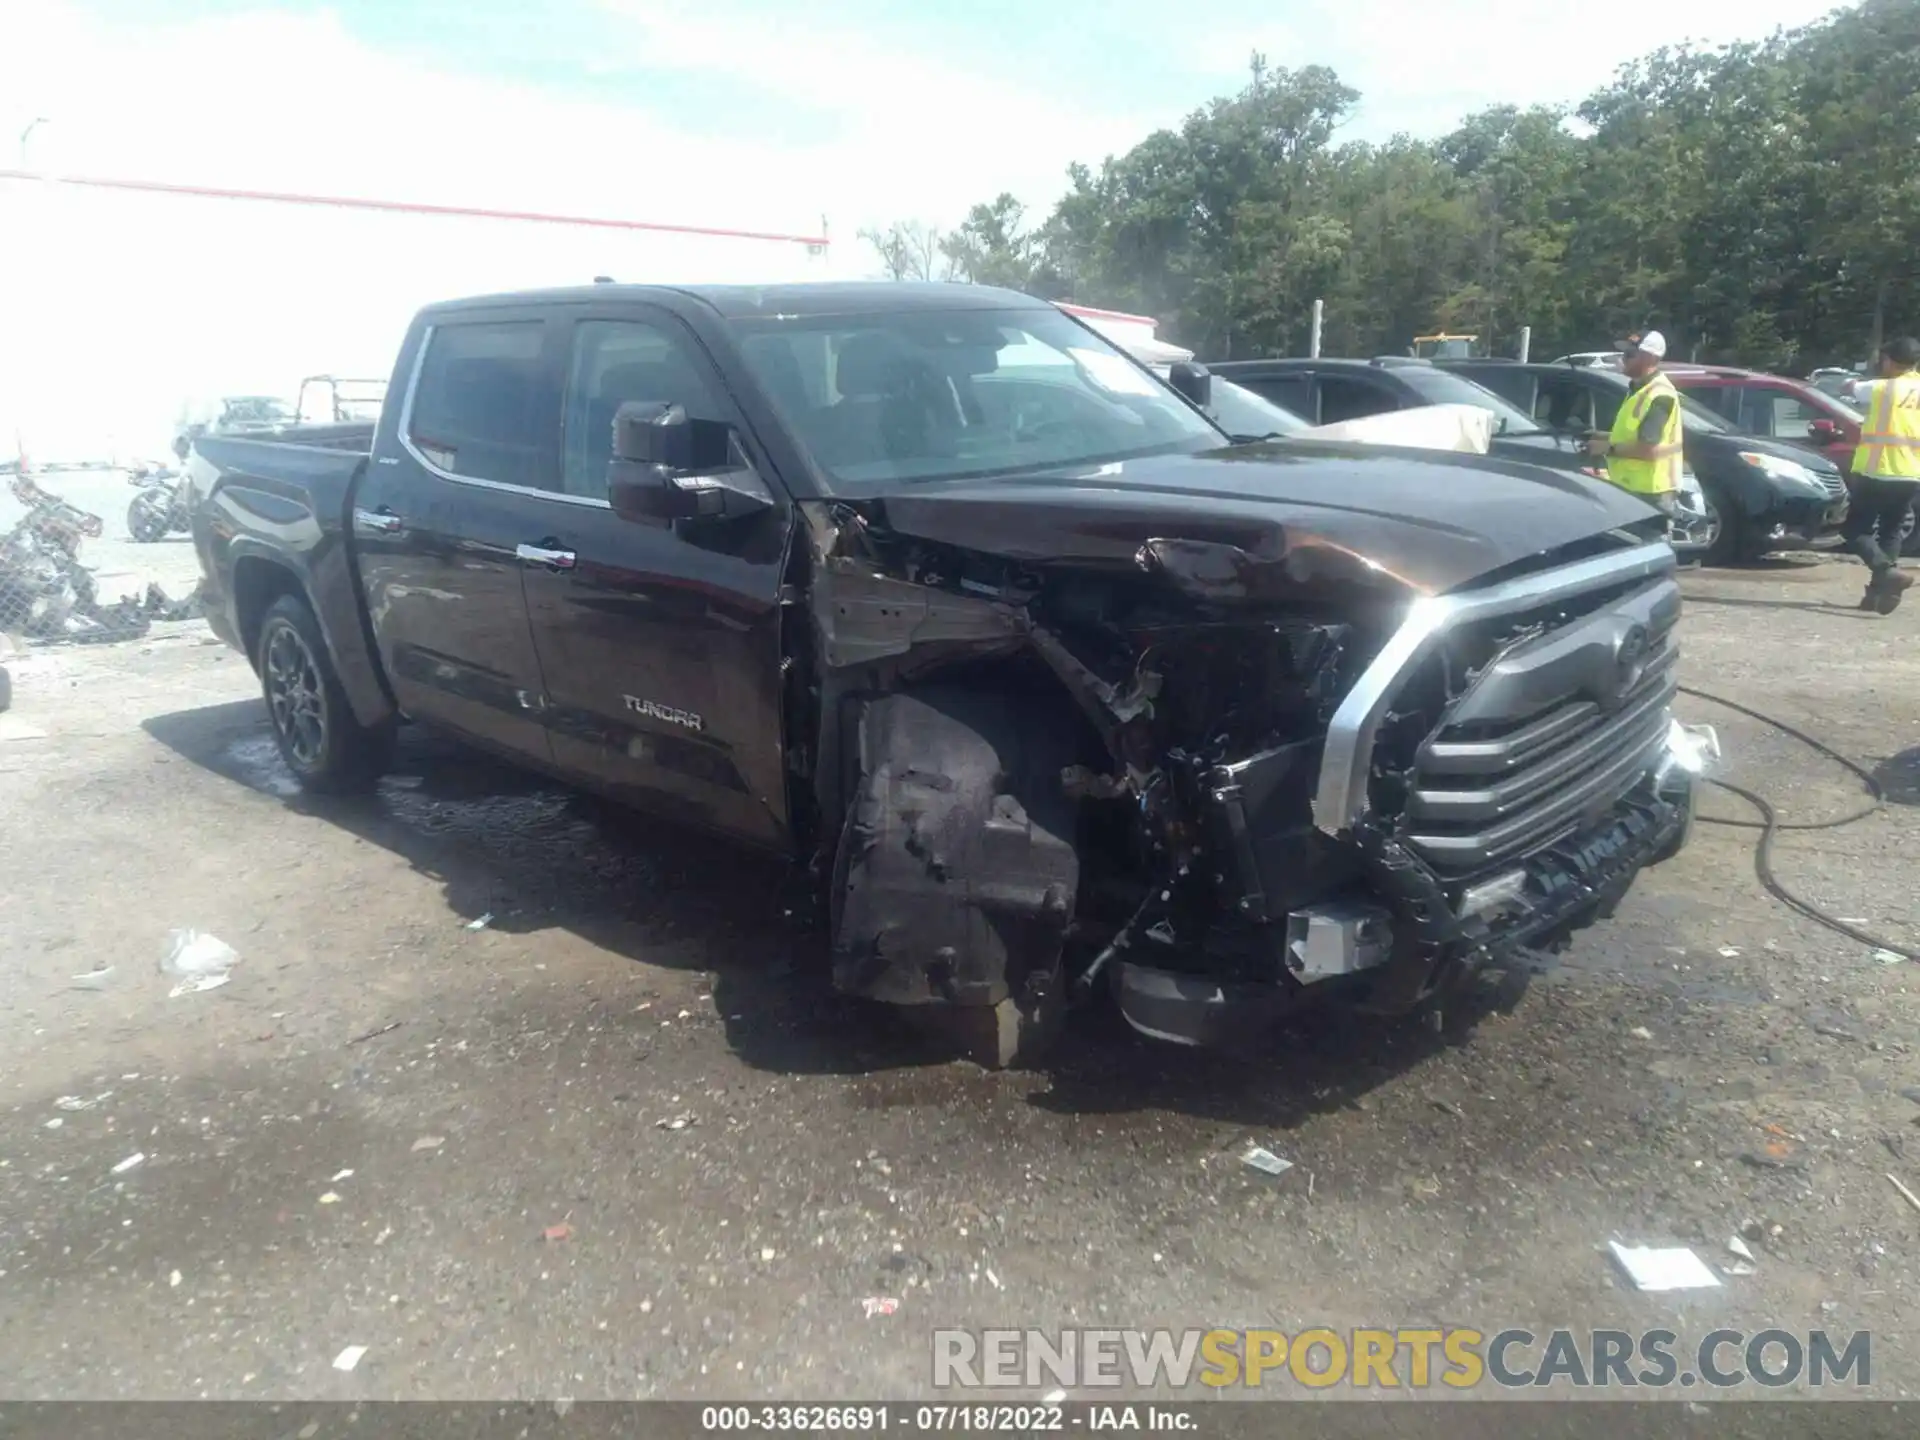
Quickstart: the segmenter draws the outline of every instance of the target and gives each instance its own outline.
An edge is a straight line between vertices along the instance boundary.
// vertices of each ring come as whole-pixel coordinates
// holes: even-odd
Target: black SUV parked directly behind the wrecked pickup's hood
[[[1213,374],[1284,405],[1308,424],[1338,424],[1367,415],[1421,405],[1475,405],[1494,417],[1494,455],[1553,470],[1574,470],[1603,480],[1607,472],[1571,430],[1553,430],[1505,397],[1436,361],[1404,355],[1379,359],[1263,359],[1210,365]],[[1672,547],[1688,559],[1705,559],[1720,522],[1707,509],[1692,474],[1682,482],[1680,515],[1670,526]]]

